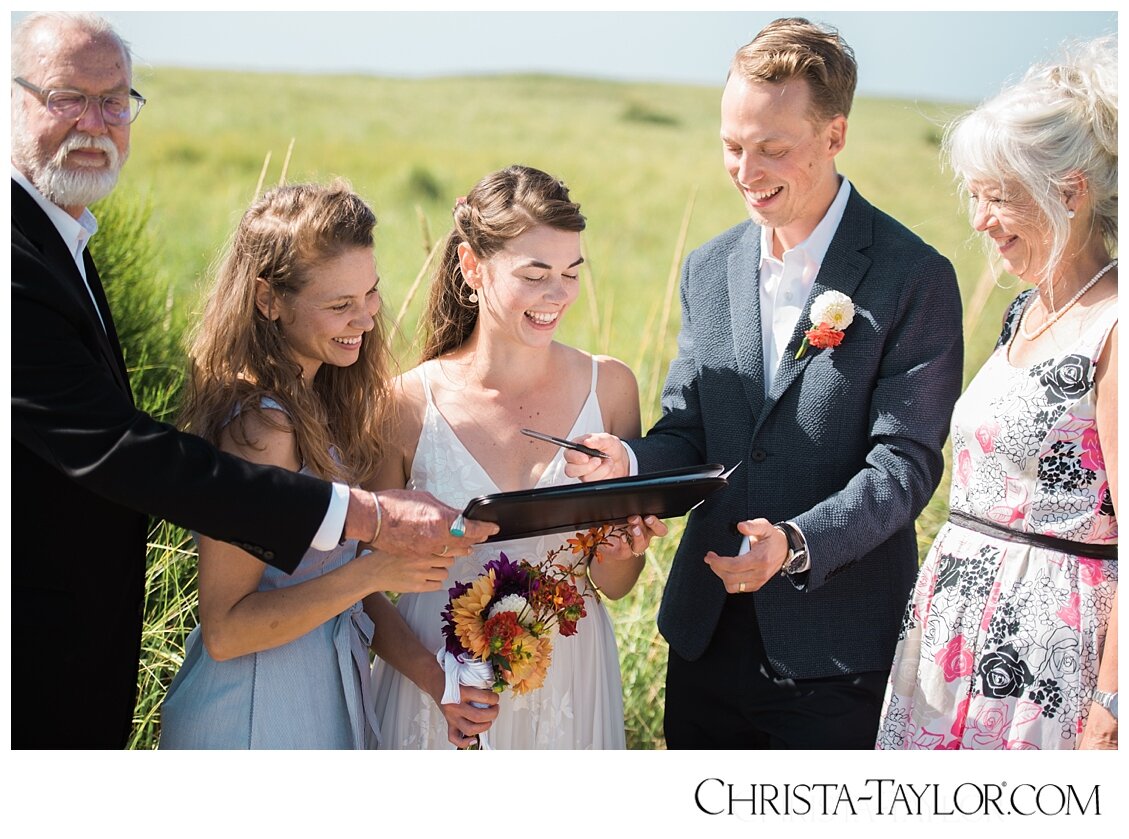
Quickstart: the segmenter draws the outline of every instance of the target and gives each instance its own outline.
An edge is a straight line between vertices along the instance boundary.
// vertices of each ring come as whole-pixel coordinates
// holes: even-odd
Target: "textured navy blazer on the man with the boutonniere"
[[[961,391],[961,299],[948,260],[854,187],[809,298],[764,392],[761,228],[706,243],[682,271],[682,330],[663,416],[630,445],[640,471],[738,461],[729,486],[690,514],[658,626],[683,658],[708,647],[727,596],[753,597],[764,649],[787,678],[890,666],[917,574],[913,521],[940,481]],[[794,358],[812,300],[855,304],[842,343]],[[736,523],[793,519],[812,568],[727,595],[707,551],[732,557]],[[750,629],[752,631],[752,629]]]

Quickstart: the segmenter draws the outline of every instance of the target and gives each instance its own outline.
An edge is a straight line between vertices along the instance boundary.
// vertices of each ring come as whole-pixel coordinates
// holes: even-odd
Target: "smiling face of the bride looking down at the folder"
[[[480,326],[546,346],[579,294],[580,234],[541,225],[484,260],[463,247],[463,273],[479,295]]]

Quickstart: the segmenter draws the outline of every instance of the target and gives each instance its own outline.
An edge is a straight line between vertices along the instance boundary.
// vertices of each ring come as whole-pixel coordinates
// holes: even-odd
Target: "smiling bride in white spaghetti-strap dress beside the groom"
[[[458,199],[427,312],[422,364],[394,388],[396,430],[374,488],[430,491],[462,508],[475,496],[572,482],[562,449],[520,434],[575,438],[640,432],[634,376],[621,361],[553,340],[576,300],[585,219],[567,187],[511,166]],[[665,527],[633,518],[628,538],[601,550],[578,587],[587,617],[575,636],[554,636],[544,684],[506,692],[490,728],[496,749],[623,749],[623,699],[615,636],[604,597],[627,594],[644,552]],[[444,589],[404,594],[396,608],[423,645],[439,649],[446,587],[469,583],[499,552],[539,561],[572,533],[476,545],[455,561]],[[434,701],[384,662],[374,670],[383,749],[449,749]]]

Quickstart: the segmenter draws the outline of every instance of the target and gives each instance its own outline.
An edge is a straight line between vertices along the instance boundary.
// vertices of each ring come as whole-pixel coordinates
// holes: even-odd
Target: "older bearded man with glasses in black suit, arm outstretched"
[[[435,588],[495,532],[423,493],[370,493],[253,466],[133,405],[86,243],[145,99],[102,18],[12,30],[11,732],[15,748],[121,748],[132,722],[148,517],[292,570],[371,541]],[[431,554],[443,554],[432,557]]]

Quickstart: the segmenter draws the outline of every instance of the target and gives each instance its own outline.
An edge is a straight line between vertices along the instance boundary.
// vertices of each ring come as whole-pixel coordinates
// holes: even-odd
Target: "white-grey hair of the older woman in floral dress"
[[[1071,44],[1060,61],[1032,67],[1023,80],[949,125],[944,143],[956,177],[1017,183],[1050,228],[1040,279],[1064,257],[1070,222],[1064,194],[1086,178],[1092,230],[1110,251],[1118,238],[1118,45],[1113,35]]]

